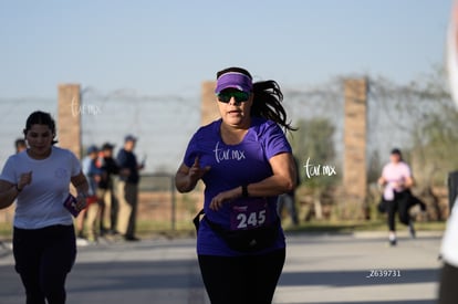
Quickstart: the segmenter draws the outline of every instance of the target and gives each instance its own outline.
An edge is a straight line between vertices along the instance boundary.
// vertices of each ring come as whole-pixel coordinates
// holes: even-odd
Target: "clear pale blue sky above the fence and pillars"
[[[408,82],[443,64],[450,0],[18,0],[0,2],[0,97],[192,94],[216,71],[311,85],[347,74]]]

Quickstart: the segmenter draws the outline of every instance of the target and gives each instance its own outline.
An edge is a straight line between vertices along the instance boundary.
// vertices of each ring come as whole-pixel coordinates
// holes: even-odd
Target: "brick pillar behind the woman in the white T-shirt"
[[[81,86],[60,84],[58,91],[58,145],[81,158]]]

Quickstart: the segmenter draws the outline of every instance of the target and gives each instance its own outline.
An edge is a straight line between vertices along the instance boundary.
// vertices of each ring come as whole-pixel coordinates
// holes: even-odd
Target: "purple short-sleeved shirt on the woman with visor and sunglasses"
[[[206,186],[204,201],[206,217],[230,230],[273,222],[277,219],[277,197],[239,198],[225,203],[218,211],[209,209],[209,205],[221,191],[258,182],[271,176],[269,159],[278,154],[291,153],[287,137],[274,122],[253,117],[243,140],[238,145],[226,145],[220,136],[220,126],[221,119],[199,128],[192,136],[184,159],[185,165],[191,167],[196,157],[199,157],[201,167],[211,167],[202,177]],[[284,245],[284,235],[281,231],[274,245],[266,251]],[[226,256],[241,254],[230,250],[205,221],[199,228],[197,252]]]

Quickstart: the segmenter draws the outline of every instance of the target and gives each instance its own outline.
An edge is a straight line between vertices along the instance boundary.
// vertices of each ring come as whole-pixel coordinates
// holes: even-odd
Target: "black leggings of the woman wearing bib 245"
[[[211,304],[270,304],[283,270],[285,249],[261,255],[199,255]]]

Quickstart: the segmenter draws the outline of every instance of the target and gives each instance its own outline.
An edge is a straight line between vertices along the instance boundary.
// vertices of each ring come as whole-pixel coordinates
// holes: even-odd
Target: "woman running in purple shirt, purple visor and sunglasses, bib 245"
[[[283,269],[285,241],[277,198],[295,187],[294,130],[274,81],[252,83],[250,73],[217,73],[221,118],[200,127],[176,174],[180,192],[206,186],[196,222],[197,254],[212,304],[271,303]]]

